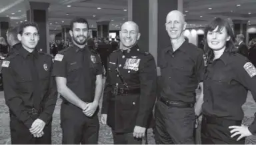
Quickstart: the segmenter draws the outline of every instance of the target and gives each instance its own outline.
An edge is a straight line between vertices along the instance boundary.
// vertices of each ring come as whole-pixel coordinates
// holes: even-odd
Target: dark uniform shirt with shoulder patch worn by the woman
[[[241,106],[245,103],[248,89],[256,98],[256,69],[245,57],[223,53],[211,61],[205,71],[203,114],[243,120]],[[255,121],[249,127],[255,133]]]

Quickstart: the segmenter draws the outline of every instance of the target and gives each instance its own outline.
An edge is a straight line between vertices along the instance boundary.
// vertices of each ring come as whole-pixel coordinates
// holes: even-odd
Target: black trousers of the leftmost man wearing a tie
[[[51,144],[51,123],[45,125],[43,136],[34,138],[29,128],[14,116],[10,118],[11,144]]]

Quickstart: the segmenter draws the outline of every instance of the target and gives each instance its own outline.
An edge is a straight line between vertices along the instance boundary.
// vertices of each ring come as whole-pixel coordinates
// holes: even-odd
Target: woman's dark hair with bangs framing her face
[[[209,62],[214,57],[213,49],[211,49],[207,43],[207,33],[209,31],[213,31],[217,27],[218,27],[217,32],[221,31],[225,27],[227,30],[227,35],[230,36],[229,41],[227,41],[227,43],[226,43],[225,53],[236,53],[237,52],[237,48],[235,47],[235,34],[234,34],[234,31],[233,31],[231,25],[225,19],[221,19],[221,18],[217,17],[217,18],[213,19],[213,21],[211,21],[211,23],[209,23],[205,27],[205,35],[204,35],[205,48],[204,49],[205,49],[205,53],[207,55],[207,62]]]

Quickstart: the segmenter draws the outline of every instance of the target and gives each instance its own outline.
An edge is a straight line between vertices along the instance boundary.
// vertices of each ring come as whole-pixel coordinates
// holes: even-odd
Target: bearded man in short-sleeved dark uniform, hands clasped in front
[[[99,98],[103,87],[103,67],[99,55],[87,48],[88,23],[71,21],[73,46],[55,56],[53,76],[63,98],[61,128],[63,144],[97,144]]]

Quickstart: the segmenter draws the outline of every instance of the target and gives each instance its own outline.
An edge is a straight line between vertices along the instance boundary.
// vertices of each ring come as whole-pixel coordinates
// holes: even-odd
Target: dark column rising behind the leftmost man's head
[[[44,53],[50,53],[49,49],[49,3],[27,1],[27,21],[37,23],[40,40],[37,48]]]

